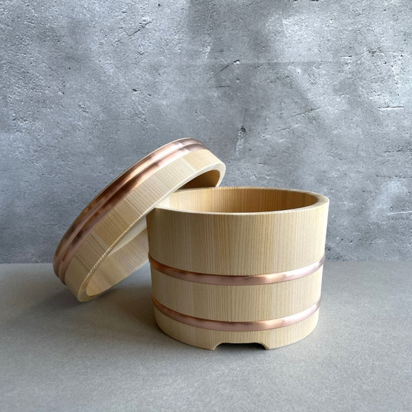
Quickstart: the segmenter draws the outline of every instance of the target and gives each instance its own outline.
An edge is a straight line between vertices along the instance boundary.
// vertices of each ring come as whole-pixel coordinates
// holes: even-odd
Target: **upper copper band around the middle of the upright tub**
[[[273,284],[278,282],[288,282],[289,280],[299,279],[299,277],[308,276],[316,272],[325,261],[325,255],[320,260],[305,266],[297,268],[293,271],[286,271],[281,273],[268,273],[266,275],[253,276],[233,276],[233,275],[210,275],[209,273],[197,273],[190,271],[183,271],[182,269],[172,268],[166,266],[149,255],[149,262],[163,275],[175,277],[176,279],[186,280],[187,282],[198,282],[211,285],[227,285],[227,286],[251,286]]]

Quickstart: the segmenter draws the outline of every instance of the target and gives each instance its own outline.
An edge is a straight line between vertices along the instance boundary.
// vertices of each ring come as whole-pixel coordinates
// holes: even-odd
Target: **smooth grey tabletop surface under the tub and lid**
[[[319,325],[277,350],[155,325],[148,266],[79,304],[49,264],[0,265],[3,411],[412,411],[412,262],[326,262]]]

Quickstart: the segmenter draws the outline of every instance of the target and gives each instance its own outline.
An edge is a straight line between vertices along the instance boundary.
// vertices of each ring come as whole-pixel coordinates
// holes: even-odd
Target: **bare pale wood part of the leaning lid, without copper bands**
[[[224,174],[225,165],[217,157],[209,150],[198,150],[139,184],[98,222],[74,255],[66,273],[73,294],[80,301],[93,299],[144,264],[148,255],[144,217],[148,211],[179,187],[218,185]],[[130,231],[134,233],[129,241],[117,247]]]

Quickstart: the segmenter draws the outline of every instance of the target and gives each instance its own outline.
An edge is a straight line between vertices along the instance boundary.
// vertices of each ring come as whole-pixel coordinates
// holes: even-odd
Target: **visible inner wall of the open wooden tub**
[[[170,209],[253,213],[298,209],[317,203],[318,198],[306,192],[262,187],[213,187],[182,190],[172,194],[162,206]]]

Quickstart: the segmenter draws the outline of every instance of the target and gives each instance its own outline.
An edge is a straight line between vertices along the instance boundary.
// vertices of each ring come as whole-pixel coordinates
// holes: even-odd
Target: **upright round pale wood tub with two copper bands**
[[[181,190],[147,216],[159,328],[184,343],[281,347],[317,325],[328,198],[298,190]]]

